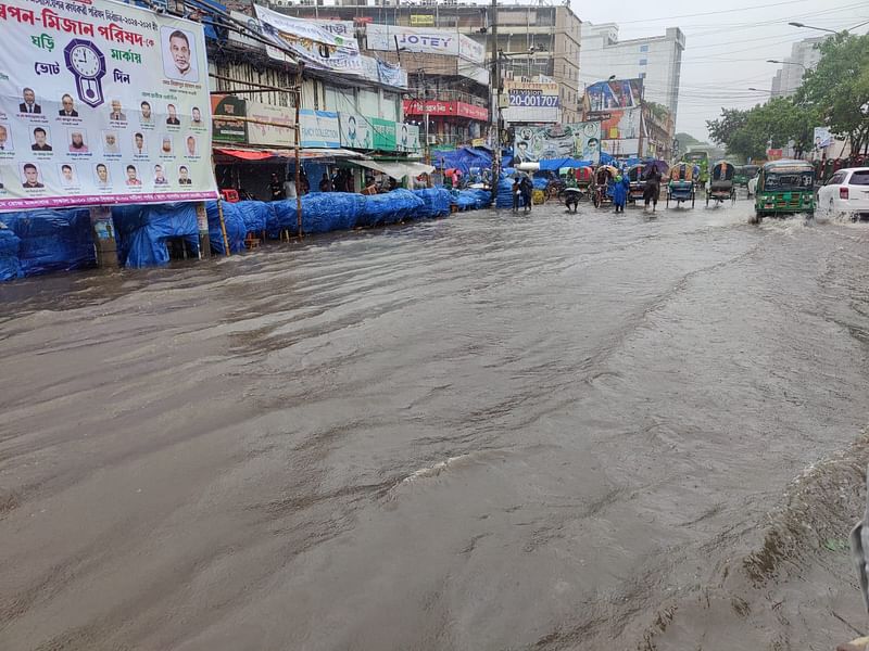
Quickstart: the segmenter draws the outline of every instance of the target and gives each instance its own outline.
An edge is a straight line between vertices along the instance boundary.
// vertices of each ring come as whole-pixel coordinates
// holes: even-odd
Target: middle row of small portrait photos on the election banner
[[[176,155],[190,158],[200,155],[200,135],[188,133],[181,137],[181,149],[176,149],[176,136],[171,133],[154,133],[150,131],[128,131],[118,129],[102,129],[96,136],[80,127],[49,127],[38,126],[26,132],[21,129],[13,133],[9,123],[0,123],[0,152],[14,152],[18,140],[24,139],[24,151],[32,152],[59,152],[68,154],[104,155],[159,155],[174,157]]]

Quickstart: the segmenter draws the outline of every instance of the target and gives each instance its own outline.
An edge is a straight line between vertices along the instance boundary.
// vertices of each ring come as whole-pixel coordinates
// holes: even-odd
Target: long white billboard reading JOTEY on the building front
[[[457,31],[377,23],[369,24],[365,29],[369,50],[394,52],[400,49],[424,54],[444,54],[477,64],[486,61],[486,46]]]

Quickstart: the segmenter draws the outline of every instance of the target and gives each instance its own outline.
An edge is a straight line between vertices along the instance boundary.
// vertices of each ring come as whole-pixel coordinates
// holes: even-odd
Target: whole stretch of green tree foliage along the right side
[[[794,141],[797,154],[809,151],[814,128],[827,125],[851,138],[855,150],[869,142],[869,36],[837,35],[820,44],[821,60],[808,71],[793,98],[772,98],[742,111],[721,108],[706,126],[715,142],[740,157],[765,158],[767,145],[785,148]]]

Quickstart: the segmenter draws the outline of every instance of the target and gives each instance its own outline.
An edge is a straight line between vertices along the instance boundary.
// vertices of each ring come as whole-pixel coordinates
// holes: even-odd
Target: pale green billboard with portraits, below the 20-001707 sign
[[[601,123],[587,122],[516,129],[514,157],[519,163],[547,158],[601,162]]]

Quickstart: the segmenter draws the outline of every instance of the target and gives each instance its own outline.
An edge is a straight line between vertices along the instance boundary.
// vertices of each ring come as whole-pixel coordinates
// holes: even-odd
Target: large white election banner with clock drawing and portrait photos
[[[0,210],[215,199],[202,25],[0,3]]]

